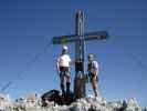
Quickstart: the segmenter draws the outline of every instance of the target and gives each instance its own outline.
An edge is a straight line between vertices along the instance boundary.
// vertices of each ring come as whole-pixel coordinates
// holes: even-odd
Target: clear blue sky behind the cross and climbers
[[[135,97],[147,105],[146,6],[146,0],[0,0],[0,88],[14,81],[3,92],[12,98],[60,89],[54,61],[61,46],[43,49],[52,37],[74,33],[75,12],[83,10],[85,32],[109,33],[107,41],[86,42],[86,54],[95,53],[101,64],[103,97]],[[67,46],[74,59],[74,44]]]

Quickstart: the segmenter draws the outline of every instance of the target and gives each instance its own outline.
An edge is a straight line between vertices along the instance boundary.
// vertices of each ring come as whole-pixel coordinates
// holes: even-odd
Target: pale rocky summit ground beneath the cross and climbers
[[[103,98],[77,99],[70,105],[59,105],[48,101],[46,107],[42,107],[42,100],[39,95],[30,95],[12,101],[8,95],[0,97],[0,111],[147,111],[141,109],[136,99],[107,102]]]

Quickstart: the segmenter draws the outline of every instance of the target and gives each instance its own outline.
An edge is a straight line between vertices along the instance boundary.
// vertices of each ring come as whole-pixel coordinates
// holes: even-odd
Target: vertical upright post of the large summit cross
[[[82,97],[85,97],[85,93],[86,93],[84,79],[82,79],[82,77],[84,77],[85,74],[84,12],[82,11],[77,11],[76,17],[75,17],[75,34],[77,36],[76,38],[78,40],[75,42],[74,93],[76,98],[82,98]]]

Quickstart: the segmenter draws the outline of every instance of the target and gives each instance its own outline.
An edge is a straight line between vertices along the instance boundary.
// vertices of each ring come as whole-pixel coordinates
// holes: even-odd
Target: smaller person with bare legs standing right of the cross
[[[98,63],[97,61],[94,60],[94,54],[92,53],[87,56],[87,60],[88,60],[87,72],[88,72],[90,81],[92,83],[95,97],[97,97],[98,95],[98,89],[97,89]]]

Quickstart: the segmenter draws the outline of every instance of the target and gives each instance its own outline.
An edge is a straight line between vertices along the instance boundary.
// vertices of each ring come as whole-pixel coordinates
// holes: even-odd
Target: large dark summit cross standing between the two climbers
[[[84,12],[77,11],[75,16],[75,34],[53,37],[53,44],[64,44],[69,42],[75,43],[75,79],[74,79],[74,94],[76,98],[85,97],[85,83],[81,81],[82,87],[78,88],[78,73],[82,77],[85,74],[84,56],[85,56],[85,41],[105,40],[107,39],[107,31],[94,31],[84,33]],[[78,93],[81,92],[81,93]]]

